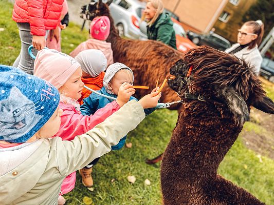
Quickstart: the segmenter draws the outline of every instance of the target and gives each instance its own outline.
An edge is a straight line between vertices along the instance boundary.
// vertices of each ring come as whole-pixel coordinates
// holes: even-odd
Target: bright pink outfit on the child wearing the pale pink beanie
[[[84,134],[103,122],[108,116],[119,110],[120,106],[116,101],[113,101],[90,116],[82,115],[74,106],[64,104],[61,101],[59,108],[63,110],[63,114],[61,115],[60,129],[55,136],[60,136],[63,140],[72,140],[75,136]],[[75,172],[68,175],[62,182],[61,194],[66,194],[74,189],[75,181]]]

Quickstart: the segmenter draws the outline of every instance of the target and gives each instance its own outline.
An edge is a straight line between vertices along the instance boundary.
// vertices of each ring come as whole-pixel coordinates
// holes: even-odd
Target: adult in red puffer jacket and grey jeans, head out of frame
[[[64,0],[15,0],[12,19],[17,23],[21,38],[21,52],[13,63],[28,74],[33,74],[34,59],[28,54],[33,45],[34,55],[45,47],[46,33],[54,31],[59,40],[59,24]]]

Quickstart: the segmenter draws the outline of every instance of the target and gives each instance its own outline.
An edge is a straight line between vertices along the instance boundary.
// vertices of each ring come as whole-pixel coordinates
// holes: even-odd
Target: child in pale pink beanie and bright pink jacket
[[[122,106],[115,100],[103,109],[98,110],[94,115],[82,115],[77,101],[81,97],[84,86],[81,80],[81,65],[75,58],[57,50],[43,49],[39,51],[34,61],[33,72],[34,76],[49,81],[59,90],[59,108],[63,110],[63,114],[61,115],[60,129],[54,136],[60,136],[63,140],[70,141],[75,136],[86,133]],[[65,203],[62,195],[74,188],[75,181],[75,172],[64,179],[58,204]]]

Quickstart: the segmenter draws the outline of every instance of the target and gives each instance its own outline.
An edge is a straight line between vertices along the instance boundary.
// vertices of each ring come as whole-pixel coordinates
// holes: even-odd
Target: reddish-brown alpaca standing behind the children
[[[112,0],[106,4],[100,0],[96,4],[90,4],[88,6],[90,20],[102,15],[109,17],[111,33],[106,41],[112,43],[114,62],[123,63],[133,70],[135,85],[155,88],[157,79],[159,78],[160,85],[169,76],[169,68],[182,58],[182,53],[155,40],[142,41],[119,37],[107,6],[111,3]],[[147,90],[136,90],[137,97],[145,94],[148,94]],[[168,103],[178,99],[178,95],[166,85],[162,90],[161,102]],[[172,109],[176,108],[177,105],[172,107]]]

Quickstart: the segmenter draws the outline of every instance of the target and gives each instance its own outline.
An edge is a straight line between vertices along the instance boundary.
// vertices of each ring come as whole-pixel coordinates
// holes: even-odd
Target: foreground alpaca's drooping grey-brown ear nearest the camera
[[[240,126],[244,125],[245,121],[249,121],[249,110],[245,100],[234,88],[224,86],[216,88],[217,97],[224,99],[228,108],[234,115],[234,119]]]

